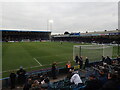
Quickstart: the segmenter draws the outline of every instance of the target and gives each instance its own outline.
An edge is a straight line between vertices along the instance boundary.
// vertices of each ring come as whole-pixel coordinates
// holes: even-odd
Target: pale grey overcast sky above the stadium
[[[48,25],[48,20],[53,23]],[[118,3],[6,2],[2,4],[2,27],[52,29],[52,33],[115,30],[118,28]]]

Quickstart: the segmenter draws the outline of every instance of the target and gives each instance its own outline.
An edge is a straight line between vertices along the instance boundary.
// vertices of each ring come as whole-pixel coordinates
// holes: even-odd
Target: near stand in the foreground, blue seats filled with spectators
[[[74,67],[71,67],[71,76],[65,72],[65,68],[59,68],[59,74],[64,73],[62,78],[56,81],[50,76],[51,70],[44,72],[34,72],[26,74],[26,82],[21,88],[28,88],[24,90],[120,90],[120,58],[111,60],[111,64],[104,61],[91,62],[90,67],[86,69],[76,68],[74,73],[79,74],[83,81],[83,85],[77,86],[70,82],[70,78],[74,75],[71,72]],[[64,72],[63,72],[64,70]],[[67,75],[67,76],[66,76]],[[9,85],[8,81],[6,81]],[[19,85],[18,85],[19,86]],[[9,87],[9,86],[8,86]]]

